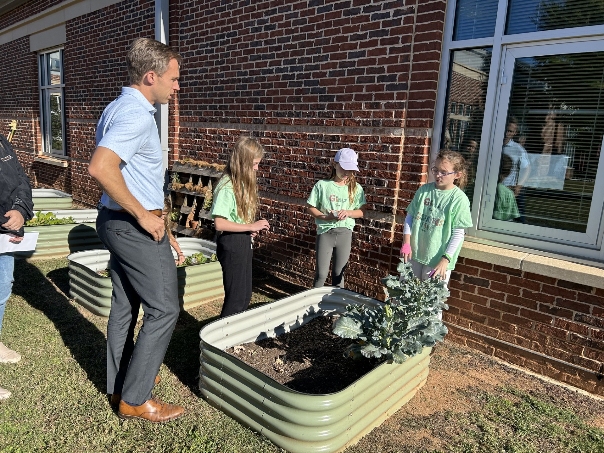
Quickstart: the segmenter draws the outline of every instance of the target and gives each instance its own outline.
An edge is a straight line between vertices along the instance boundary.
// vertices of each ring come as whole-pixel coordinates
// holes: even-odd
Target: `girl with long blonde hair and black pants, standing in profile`
[[[268,220],[254,221],[259,205],[256,172],[263,156],[264,148],[253,138],[237,140],[214,190],[211,214],[220,231],[216,255],[225,288],[221,318],[242,312],[252,298],[252,237],[270,228]]]

